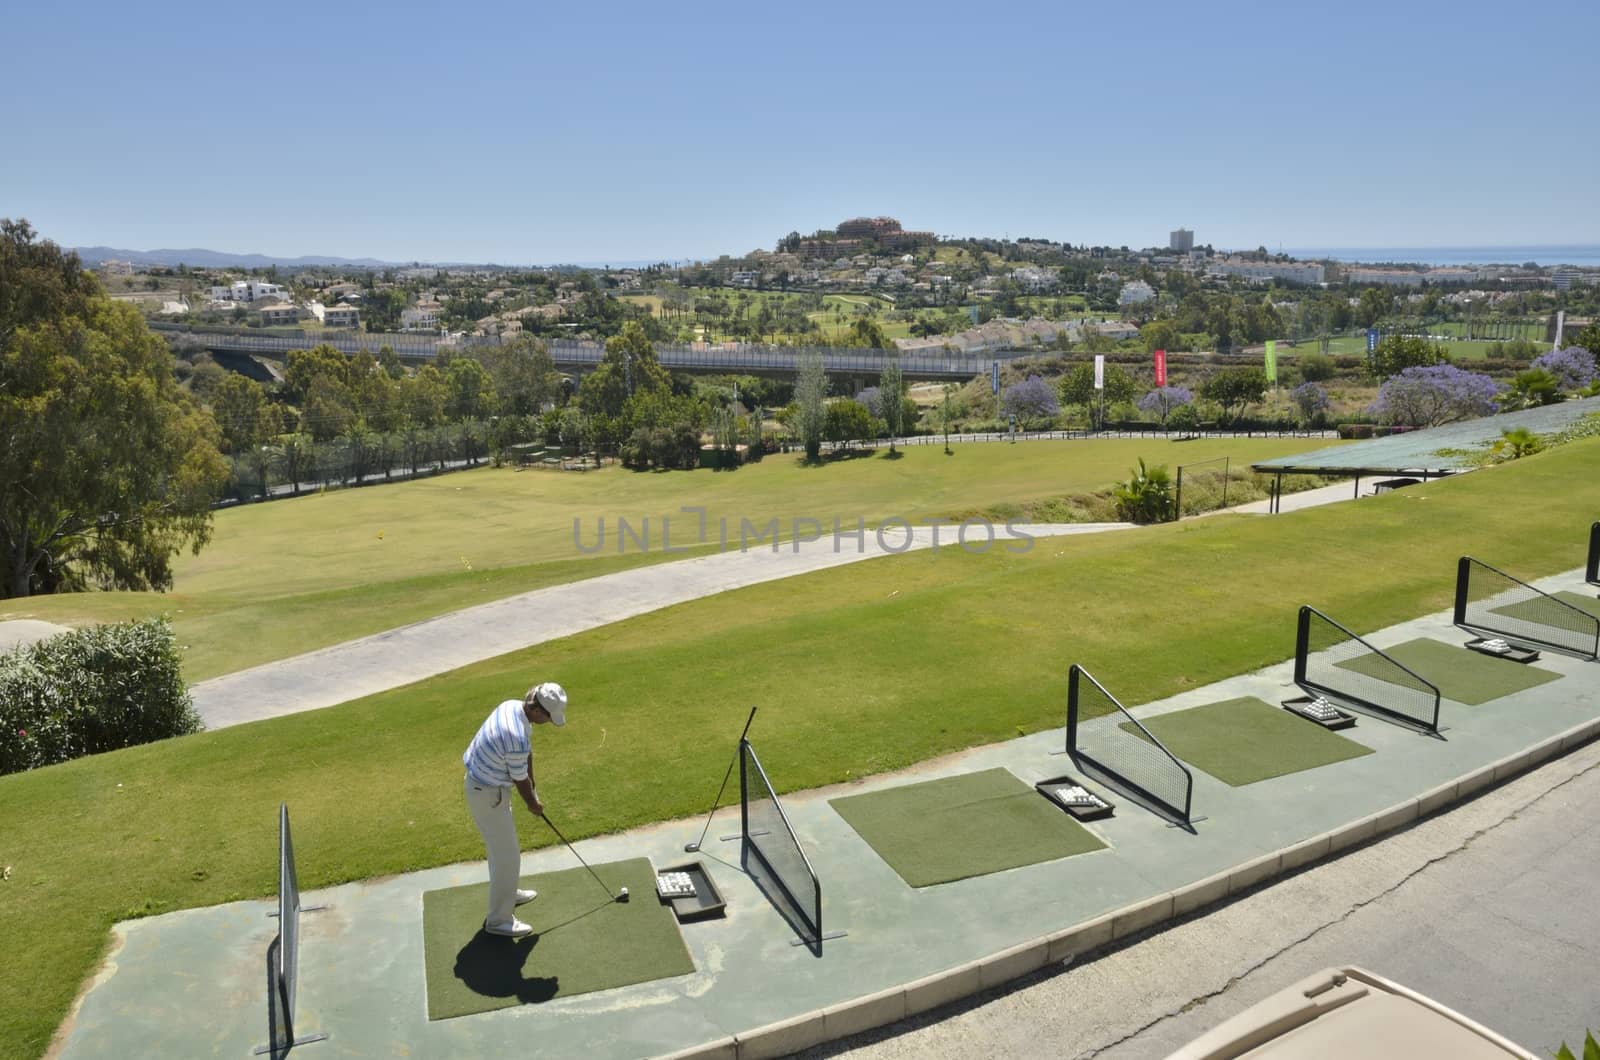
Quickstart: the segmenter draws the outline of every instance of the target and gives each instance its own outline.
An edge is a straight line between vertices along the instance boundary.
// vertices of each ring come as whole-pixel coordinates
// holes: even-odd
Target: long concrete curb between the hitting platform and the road
[[[1224,869],[1214,876],[1186,884],[1178,890],[1154,895],[1106,913],[1093,921],[1074,924],[1072,927],[1042,935],[942,972],[934,972],[901,986],[891,986],[874,994],[842,1001],[826,1009],[814,1009],[778,1023],[768,1023],[766,1026],[718,1038],[701,1046],[664,1054],[662,1060],[771,1060],[877,1026],[898,1023],[909,1015],[928,1012],[930,1009],[938,1009],[952,1001],[960,1001],[962,998],[970,998],[971,994],[1021,978],[1048,964],[1072,961],[1120,938],[1147,932],[1166,921],[1218,905],[1232,895],[1331,858],[1378,836],[1400,831],[1424,817],[1462,802],[1485,788],[1518,777],[1595,738],[1600,738],[1600,717],[1541,740],[1531,748],[1509,754],[1498,762],[1482,765],[1464,777],[1446,781],[1387,810],[1368,813],[1349,825],[1312,836],[1310,839],[1302,839],[1274,853],[1251,858],[1232,869]]]

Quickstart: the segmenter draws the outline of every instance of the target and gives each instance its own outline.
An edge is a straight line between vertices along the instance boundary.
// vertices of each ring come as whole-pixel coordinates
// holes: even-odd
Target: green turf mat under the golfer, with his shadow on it
[[[656,898],[648,858],[595,865],[614,895],[606,901],[582,868],[525,876],[539,897],[517,908],[526,938],[483,932],[488,882],[422,895],[427,1018],[507,1009],[594,990],[646,983],[694,970],[670,906]]]

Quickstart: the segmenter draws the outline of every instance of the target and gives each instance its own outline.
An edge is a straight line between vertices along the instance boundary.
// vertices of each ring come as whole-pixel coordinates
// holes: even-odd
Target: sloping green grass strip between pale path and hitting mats
[[[112,922],[275,893],[280,801],[306,890],[482,858],[461,753],[534,679],[573,697],[568,725],[536,738],[539,796],[570,837],[698,817],[752,703],[763,764],[806,789],[1059,729],[1074,661],[1138,705],[1288,658],[1307,600],[1366,632],[1448,608],[1466,552],[1530,578],[1571,570],[1597,461],[1590,439],[1286,516],[870,560],[338,708],[0,777],[0,1055],[45,1050]]]

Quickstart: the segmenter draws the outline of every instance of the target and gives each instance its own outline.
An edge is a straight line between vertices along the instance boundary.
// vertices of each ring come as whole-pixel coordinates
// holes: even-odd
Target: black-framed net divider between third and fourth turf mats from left
[[[1294,684],[1338,706],[1438,735],[1438,687],[1315,607],[1301,607]]]

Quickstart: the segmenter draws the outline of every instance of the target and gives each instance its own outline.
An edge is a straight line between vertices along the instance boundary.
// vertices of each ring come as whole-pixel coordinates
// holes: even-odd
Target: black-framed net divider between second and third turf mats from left
[[[1123,729],[1130,722],[1136,732]],[[1077,663],[1067,671],[1067,754],[1078,769],[1194,831],[1189,767]]]

